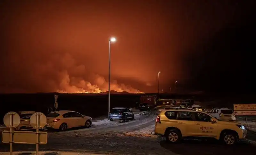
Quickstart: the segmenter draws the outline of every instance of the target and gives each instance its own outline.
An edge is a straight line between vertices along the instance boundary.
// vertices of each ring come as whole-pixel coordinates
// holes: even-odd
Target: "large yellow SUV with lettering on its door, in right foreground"
[[[235,121],[221,121],[204,111],[189,109],[164,109],[155,121],[155,135],[168,142],[177,143],[182,137],[213,137],[232,145],[243,139],[247,131]]]

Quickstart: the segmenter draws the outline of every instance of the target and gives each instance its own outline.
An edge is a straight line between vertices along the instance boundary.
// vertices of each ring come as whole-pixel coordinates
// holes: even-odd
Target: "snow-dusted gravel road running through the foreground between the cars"
[[[253,155],[255,144],[244,140],[233,147],[219,144],[217,141],[182,140],[180,144],[166,144],[161,138],[149,135],[150,131],[143,131],[144,134],[124,134],[138,133],[144,129],[150,129],[154,125],[156,116],[154,112],[137,114],[135,119],[125,123],[99,120],[93,123],[88,129],[73,129],[65,132],[48,132],[48,143],[40,145],[40,151],[76,151],[84,153],[98,154],[126,154],[126,155]],[[137,132],[135,132],[137,131]],[[255,132],[250,132],[255,134]],[[250,135],[249,135],[250,136]],[[14,144],[14,151],[34,151],[36,145]],[[8,144],[0,144],[0,152],[9,151]]]

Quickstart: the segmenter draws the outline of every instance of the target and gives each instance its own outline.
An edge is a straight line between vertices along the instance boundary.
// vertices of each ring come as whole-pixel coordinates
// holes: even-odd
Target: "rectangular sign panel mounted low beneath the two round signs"
[[[47,144],[47,138],[47,132],[39,132],[39,144]],[[36,144],[36,132],[13,131],[13,141],[16,144]],[[10,131],[2,132],[2,142],[10,143]]]

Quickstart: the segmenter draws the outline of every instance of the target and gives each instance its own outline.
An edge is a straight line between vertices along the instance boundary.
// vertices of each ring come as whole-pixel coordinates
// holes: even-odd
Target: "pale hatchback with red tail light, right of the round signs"
[[[59,129],[65,131],[74,127],[84,126],[86,128],[92,125],[92,118],[84,116],[75,111],[59,110],[49,113],[47,116],[47,129]]]

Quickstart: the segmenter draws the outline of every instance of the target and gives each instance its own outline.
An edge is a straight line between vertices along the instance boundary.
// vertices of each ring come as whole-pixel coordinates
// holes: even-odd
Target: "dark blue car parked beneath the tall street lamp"
[[[127,120],[133,120],[134,114],[128,108],[113,108],[109,112],[108,118],[110,121],[113,121],[113,120],[127,121]]]

